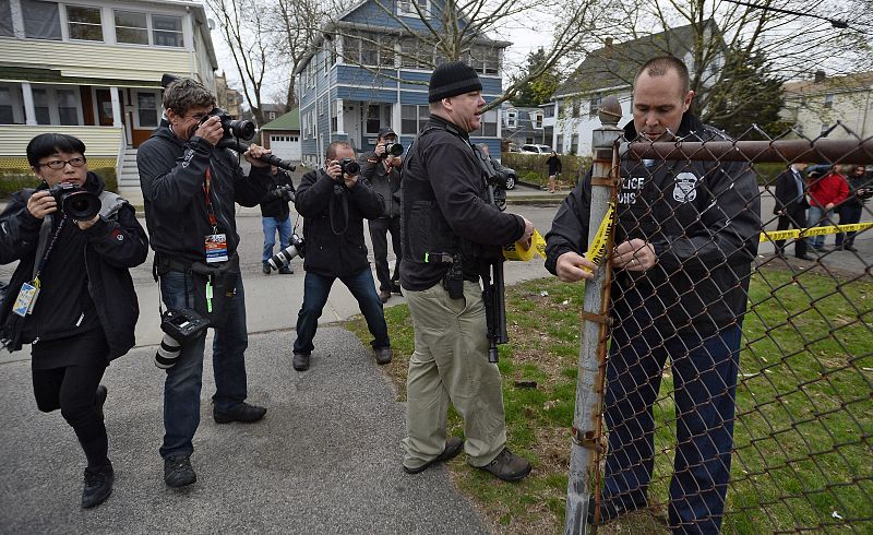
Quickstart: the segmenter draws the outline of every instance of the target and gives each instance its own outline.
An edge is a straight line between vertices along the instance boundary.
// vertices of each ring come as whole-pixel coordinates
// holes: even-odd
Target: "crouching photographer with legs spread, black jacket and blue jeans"
[[[358,301],[379,364],[391,362],[391,341],[382,302],[375,294],[367,261],[363,219],[382,214],[382,195],[359,176],[355,151],[345,141],[327,145],[326,168],[303,175],[295,206],[303,216],[306,281],[303,305],[297,317],[294,369],[309,369],[312,338],[334,281],[339,278]]]

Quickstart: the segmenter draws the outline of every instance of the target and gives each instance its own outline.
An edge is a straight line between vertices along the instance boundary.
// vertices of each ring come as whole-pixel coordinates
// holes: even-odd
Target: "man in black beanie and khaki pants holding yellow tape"
[[[409,304],[416,348],[407,378],[404,471],[418,474],[462,449],[467,462],[516,482],[530,463],[506,448],[500,371],[488,361],[479,277],[502,246],[527,246],[534,225],[488,202],[482,155],[469,133],[485,99],[476,71],[442,64],[430,79],[430,120],[404,163],[400,285]],[[464,417],[466,445],[446,439],[452,402]]]

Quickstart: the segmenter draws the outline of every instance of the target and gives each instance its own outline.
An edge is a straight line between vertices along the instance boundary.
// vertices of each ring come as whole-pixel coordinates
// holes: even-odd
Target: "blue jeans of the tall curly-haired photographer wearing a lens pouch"
[[[186,293],[186,288],[188,292]],[[191,275],[171,271],[160,277],[164,304],[170,308],[193,308]],[[237,293],[230,298],[227,325],[215,330],[212,345],[212,367],[215,374],[217,411],[229,411],[246,400],[246,294],[242,277]],[[190,455],[191,440],[200,425],[200,393],[203,385],[203,353],[206,333],[182,345],[176,366],[167,369],[164,382],[164,444],[160,456]]]

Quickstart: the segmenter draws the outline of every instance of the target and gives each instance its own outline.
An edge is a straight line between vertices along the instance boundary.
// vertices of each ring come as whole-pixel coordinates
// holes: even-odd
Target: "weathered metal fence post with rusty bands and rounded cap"
[[[591,139],[591,213],[588,225],[588,242],[594,240],[600,222],[606,216],[618,181],[617,162],[613,163],[615,141],[622,130],[621,105],[614,96],[603,99],[600,106],[600,128]],[[614,176],[614,178],[613,178]],[[613,181],[614,180],[614,181]],[[566,520],[564,533],[589,533],[587,526],[588,503],[594,496],[594,485],[599,469],[600,413],[603,402],[600,377],[606,372],[607,307],[605,296],[609,292],[609,254],[593,280],[585,284],[584,321],[582,347],[579,349],[578,378],[576,380],[576,407],[573,416],[573,441],[570,453],[570,480],[566,488]]]

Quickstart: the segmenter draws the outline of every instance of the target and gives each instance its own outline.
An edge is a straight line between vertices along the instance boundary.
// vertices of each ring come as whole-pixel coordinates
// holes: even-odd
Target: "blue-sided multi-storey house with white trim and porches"
[[[429,23],[440,27],[438,0],[418,2],[431,13]],[[417,34],[424,29],[408,0],[362,0],[322,29],[295,71],[304,165],[321,166],[334,141],[348,141],[358,154],[372,151],[385,127],[409,147],[430,117],[431,66],[444,61]],[[510,45],[477,36],[463,55],[479,73],[486,102],[502,93],[503,50]],[[470,134],[473,142],[500,154],[500,122],[499,109],[485,112],[482,126]]]

